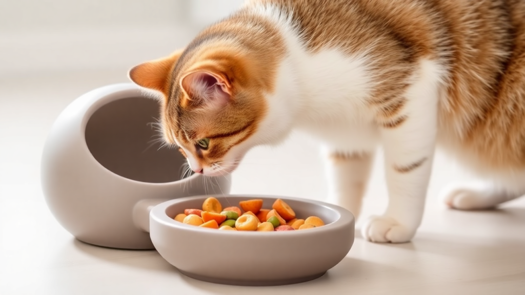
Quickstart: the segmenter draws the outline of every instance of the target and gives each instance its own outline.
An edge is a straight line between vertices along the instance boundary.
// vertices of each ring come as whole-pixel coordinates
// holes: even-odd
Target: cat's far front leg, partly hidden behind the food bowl
[[[329,202],[359,217],[372,167],[373,152],[329,151],[326,161]]]

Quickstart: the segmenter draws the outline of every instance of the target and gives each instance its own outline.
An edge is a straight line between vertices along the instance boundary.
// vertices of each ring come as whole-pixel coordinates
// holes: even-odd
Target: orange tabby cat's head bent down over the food
[[[268,87],[255,68],[242,52],[215,47],[145,62],[129,77],[162,94],[165,141],[179,147],[193,171],[217,176],[235,170],[251,147],[272,137],[263,127]]]

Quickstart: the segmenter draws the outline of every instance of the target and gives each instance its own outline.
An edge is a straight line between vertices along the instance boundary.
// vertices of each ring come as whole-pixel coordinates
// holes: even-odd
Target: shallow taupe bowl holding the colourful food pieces
[[[215,196],[223,206],[260,198],[263,208],[283,199],[298,217],[318,216],[322,227],[295,231],[227,231],[175,221],[184,209],[201,208],[209,195],[173,199],[151,209],[155,249],[184,275],[243,286],[275,286],[321,277],[352,247],[354,216],[348,210],[307,199],[277,196]]]

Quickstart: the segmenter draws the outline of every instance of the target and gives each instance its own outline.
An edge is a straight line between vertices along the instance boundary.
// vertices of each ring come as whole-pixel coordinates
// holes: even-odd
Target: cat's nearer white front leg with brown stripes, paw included
[[[402,113],[383,122],[388,206],[382,216],[364,224],[365,239],[404,243],[421,224],[435,150],[437,98],[437,83],[420,78],[408,89]]]

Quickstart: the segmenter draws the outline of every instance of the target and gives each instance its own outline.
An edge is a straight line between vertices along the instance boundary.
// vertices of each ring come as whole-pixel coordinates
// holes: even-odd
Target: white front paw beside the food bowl
[[[374,243],[406,243],[415,231],[388,216],[371,216],[361,228],[363,238]]]

